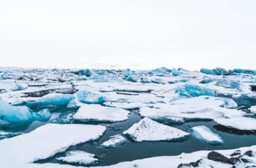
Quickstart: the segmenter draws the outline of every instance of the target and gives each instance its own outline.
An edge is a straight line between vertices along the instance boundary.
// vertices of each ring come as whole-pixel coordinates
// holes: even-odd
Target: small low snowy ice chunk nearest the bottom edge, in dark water
[[[80,166],[92,166],[99,160],[94,158],[95,154],[90,154],[86,151],[68,151],[65,157],[57,158],[58,161],[68,164],[79,164]]]

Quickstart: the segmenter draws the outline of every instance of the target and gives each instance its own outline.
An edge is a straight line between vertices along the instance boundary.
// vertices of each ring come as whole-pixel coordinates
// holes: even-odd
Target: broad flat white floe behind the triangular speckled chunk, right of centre
[[[243,111],[223,108],[224,106],[235,107],[236,103],[234,101],[227,100],[229,99],[207,96],[181,98],[172,101],[171,104],[156,103],[154,108],[142,107],[140,108],[140,115],[164,123],[175,123],[175,121],[182,123],[182,121],[244,116],[245,113]]]

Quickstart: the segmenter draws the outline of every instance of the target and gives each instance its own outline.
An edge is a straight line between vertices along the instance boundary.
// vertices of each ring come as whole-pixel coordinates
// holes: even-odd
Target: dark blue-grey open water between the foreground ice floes
[[[102,157],[101,163],[96,164],[96,166],[105,166],[111,164],[117,164],[119,162],[132,161],[135,159],[144,159],[148,157],[158,157],[158,156],[173,156],[178,155],[183,152],[191,153],[193,151],[199,150],[216,150],[216,149],[236,149],[242,146],[252,146],[255,145],[255,134],[235,134],[231,133],[226,128],[215,129],[217,123],[214,121],[193,121],[188,123],[183,123],[182,125],[174,125],[173,127],[182,129],[183,131],[189,131],[193,126],[207,126],[211,131],[219,134],[224,140],[224,144],[221,145],[211,145],[204,141],[200,141],[193,137],[190,137],[186,141],[182,142],[132,142],[127,139],[127,143],[122,146],[118,146],[115,149],[99,148],[99,146],[109,139],[109,136],[116,134],[122,134],[122,132],[129,129],[134,123],[140,121],[140,116],[137,113],[131,112],[131,115],[127,121],[117,122],[117,123],[103,123],[101,125],[107,126],[106,132],[97,141],[89,141],[83,144],[78,144],[76,146],[70,146],[66,151],[72,150],[82,150],[87,151],[92,154],[96,154]],[[74,123],[81,123],[74,121]],[[93,123],[86,123],[93,124]],[[98,124],[98,123],[97,123]],[[127,138],[127,137],[126,137]],[[37,161],[36,163],[58,163],[55,158],[63,157],[65,153],[55,154],[55,156]]]

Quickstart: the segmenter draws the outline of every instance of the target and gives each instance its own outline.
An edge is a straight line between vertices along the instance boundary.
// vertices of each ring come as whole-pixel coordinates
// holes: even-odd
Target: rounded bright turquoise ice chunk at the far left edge
[[[8,122],[26,122],[32,120],[32,110],[26,106],[11,106],[0,98],[0,117]]]

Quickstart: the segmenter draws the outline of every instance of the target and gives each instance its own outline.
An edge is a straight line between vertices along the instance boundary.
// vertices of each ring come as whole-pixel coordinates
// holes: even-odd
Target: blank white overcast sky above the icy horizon
[[[255,0],[0,0],[0,66],[256,69]]]

